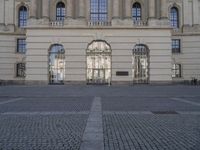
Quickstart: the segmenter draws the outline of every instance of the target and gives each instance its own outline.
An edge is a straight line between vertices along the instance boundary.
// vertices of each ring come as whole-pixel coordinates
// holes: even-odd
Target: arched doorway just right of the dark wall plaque
[[[132,51],[133,83],[149,82],[149,48],[144,44],[137,44]]]

